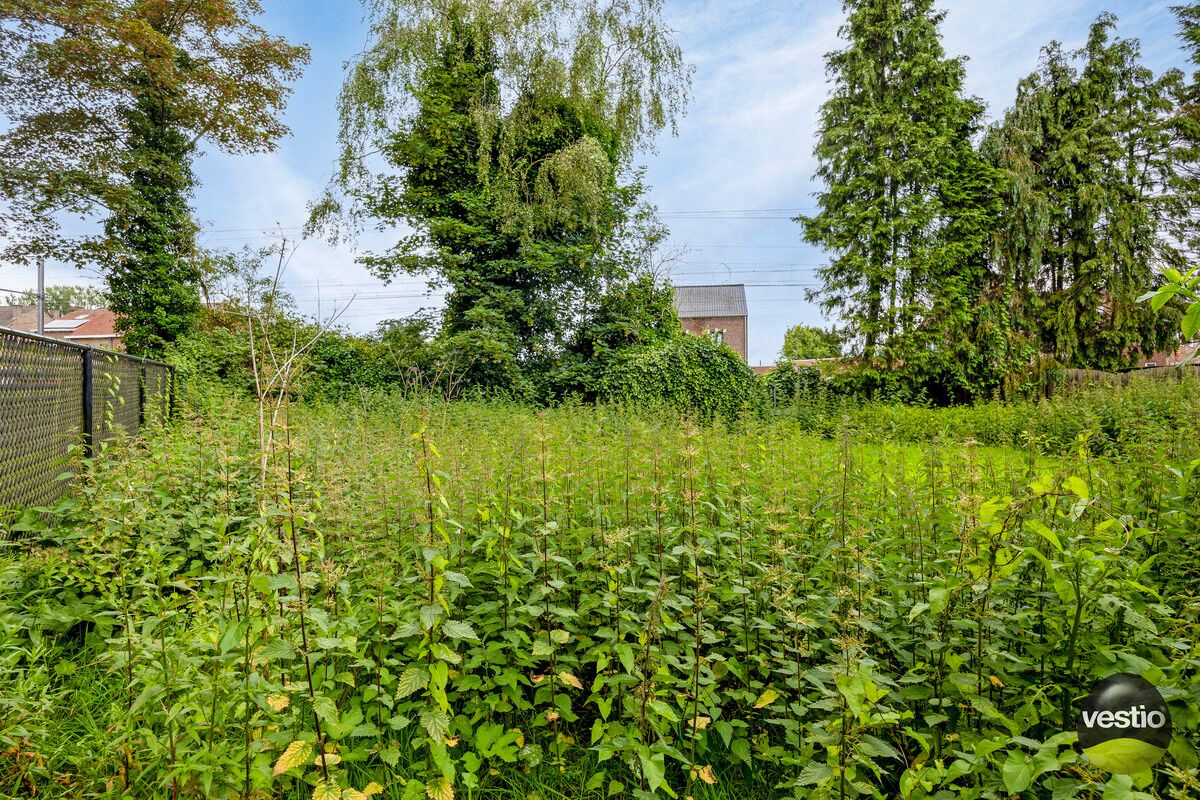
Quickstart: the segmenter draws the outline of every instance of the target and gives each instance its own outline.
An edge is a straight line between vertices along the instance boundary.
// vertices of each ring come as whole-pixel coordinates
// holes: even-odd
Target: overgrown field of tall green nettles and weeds
[[[220,401],[0,554],[0,794],[1200,798],[1200,435]],[[122,447],[136,447],[120,452]],[[1135,672],[1168,756],[1075,746]]]

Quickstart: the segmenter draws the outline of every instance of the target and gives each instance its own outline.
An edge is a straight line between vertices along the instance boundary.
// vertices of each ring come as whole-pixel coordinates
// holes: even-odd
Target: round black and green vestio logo
[[[1079,715],[1079,746],[1109,772],[1150,769],[1171,744],[1171,714],[1154,685],[1141,675],[1117,673],[1096,685]]]

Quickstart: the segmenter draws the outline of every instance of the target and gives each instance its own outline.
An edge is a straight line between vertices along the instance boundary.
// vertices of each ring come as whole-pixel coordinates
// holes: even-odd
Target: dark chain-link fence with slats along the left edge
[[[0,329],[0,515],[56,500],[72,445],[137,435],[172,410],[174,368]]]

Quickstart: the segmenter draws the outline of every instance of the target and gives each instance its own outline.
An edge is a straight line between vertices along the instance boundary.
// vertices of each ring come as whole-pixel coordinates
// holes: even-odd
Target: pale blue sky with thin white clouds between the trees
[[[325,185],[336,157],[335,102],[342,65],[361,50],[366,24],[349,0],[263,0],[263,24],[312,47],[312,64],[287,112],[292,137],[271,154],[208,152],[197,162],[202,186],[194,209],[203,241],[239,248],[266,245],[278,225],[294,235],[307,203]],[[826,97],[824,53],[839,44],[836,0],[666,0],[667,17],[696,66],[692,106],[678,137],[661,136],[644,154],[649,199],[688,254],[677,283],[745,283],[750,307],[750,362],[772,363],[784,331],[796,323],[828,324],[804,300],[823,253],[800,241],[790,217],[810,210],[817,110]],[[1012,102],[1051,40],[1078,47],[1103,11],[1118,34],[1139,38],[1156,72],[1186,67],[1170,1],[943,0],[943,42],[966,55],[967,91],[988,104],[989,118]],[[752,211],[751,215],[745,213]],[[697,213],[700,212],[700,213]],[[755,218],[748,219],[746,216]],[[370,331],[380,319],[407,315],[437,297],[406,278],[384,285],[354,263],[355,252],[384,247],[395,233],[368,231],[350,246],[300,242],[287,282],[301,309],[314,314],[354,301],[342,321]],[[49,283],[95,283],[59,265]],[[0,287],[34,284],[24,267],[0,267]]]

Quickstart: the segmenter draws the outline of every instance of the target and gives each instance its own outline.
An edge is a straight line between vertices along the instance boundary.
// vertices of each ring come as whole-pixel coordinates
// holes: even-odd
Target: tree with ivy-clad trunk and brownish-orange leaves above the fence
[[[199,306],[191,162],[271,150],[308,50],[257,0],[0,0],[0,234],[12,260],[101,261],[126,345],[155,353]],[[72,239],[62,213],[103,217]]]

